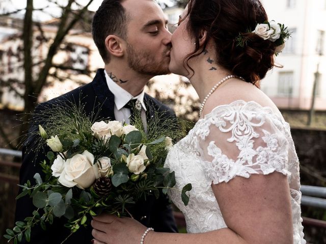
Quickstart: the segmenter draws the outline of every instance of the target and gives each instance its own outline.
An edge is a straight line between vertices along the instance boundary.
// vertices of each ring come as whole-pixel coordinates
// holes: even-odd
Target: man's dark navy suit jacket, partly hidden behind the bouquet
[[[94,80],[84,86],[78,87],[71,92],[60,96],[59,98],[50,100],[37,106],[36,113],[41,113],[44,108],[51,107],[53,105],[62,106],[65,101],[79,101],[85,106],[84,111],[91,114],[95,109],[95,113],[98,112],[99,118],[115,119],[114,115],[114,95],[107,87],[104,70],[99,69],[96,73]],[[173,111],[167,106],[163,105],[156,99],[145,94],[144,102],[147,107],[147,120],[155,119],[155,111],[167,111],[167,116],[175,116]],[[101,106],[97,106],[100,104]],[[96,111],[98,110],[98,111]],[[32,126],[31,130],[38,130],[37,125]],[[36,140],[32,136],[29,138],[29,142]],[[27,143],[28,144],[28,143]],[[23,149],[23,162],[20,169],[20,184],[23,185],[28,179],[35,182],[33,176],[36,172],[43,175],[39,162],[45,159],[43,152],[35,155],[32,153],[27,154],[26,151],[30,151],[31,148],[27,146]],[[36,160],[35,160],[36,159]],[[35,163],[34,163],[35,162]],[[16,221],[22,221],[24,218],[32,216],[32,212],[35,207],[32,203],[32,198],[25,196],[17,200],[16,207]],[[172,215],[172,208],[168,198],[165,195],[161,195],[158,199],[150,196],[145,202],[138,202],[132,211],[132,215],[135,219],[143,223],[148,227],[153,227],[155,231],[159,232],[177,232],[177,228]],[[66,219],[57,220],[53,225],[48,225],[46,231],[40,227],[36,227],[32,230],[31,243],[33,244],[60,244],[68,235],[69,229],[63,225]],[[126,233],[127,235],[128,233]],[[141,233],[140,233],[141,235]],[[91,228],[80,227],[80,229],[74,233],[65,242],[67,244],[89,244],[92,239]],[[28,243],[23,240],[21,243]]]

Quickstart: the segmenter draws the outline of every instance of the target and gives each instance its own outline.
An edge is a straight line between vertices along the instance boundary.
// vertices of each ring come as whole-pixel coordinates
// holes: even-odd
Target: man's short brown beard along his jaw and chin
[[[146,50],[135,50],[127,43],[128,65],[134,71],[143,75],[166,75],[170,74],[170,56],[167,56],[167,48],[162,54]]]

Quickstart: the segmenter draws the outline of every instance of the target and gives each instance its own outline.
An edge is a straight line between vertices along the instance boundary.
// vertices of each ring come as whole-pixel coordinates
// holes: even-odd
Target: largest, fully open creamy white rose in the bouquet
[[[77,186],[80,189],[92,186],[98,177],[98,166],[93,164],[94,156],[87,150],[67,159],[65,168],[58,181],[66,187]]]

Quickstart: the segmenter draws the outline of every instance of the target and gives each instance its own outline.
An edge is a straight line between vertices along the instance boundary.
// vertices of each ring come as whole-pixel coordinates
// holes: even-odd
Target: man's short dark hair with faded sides
[[[125,8],[121,5],[123,1],[104,0],[93,17],[93,40],[105,64],[110,63],[110,55],[105,47],[105,38],[108,35],[117,35],[126,39],[127,36],[128,18]]]

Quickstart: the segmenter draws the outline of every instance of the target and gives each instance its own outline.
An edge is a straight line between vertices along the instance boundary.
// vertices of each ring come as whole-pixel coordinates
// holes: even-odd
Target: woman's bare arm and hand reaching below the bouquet
[[[198,234],[150,231],[145,244],[293,243],[291,204],[286,176],[235,177],[212,185],[228,228]],[[140,243],[146,227],[129,218],[103,215],[92,223],[95,244]]]

